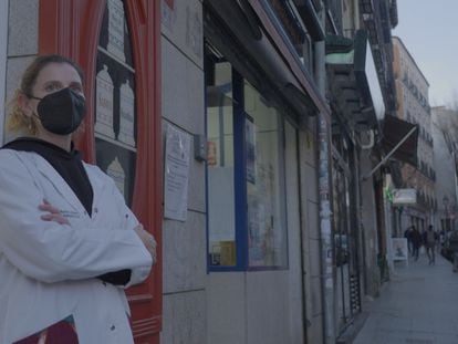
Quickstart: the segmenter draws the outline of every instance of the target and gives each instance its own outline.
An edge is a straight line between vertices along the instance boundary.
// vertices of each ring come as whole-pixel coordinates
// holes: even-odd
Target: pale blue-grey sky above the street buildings
[[[458,0],[397,0],[398,37],[429,83],[431,106],[458,106]]]

